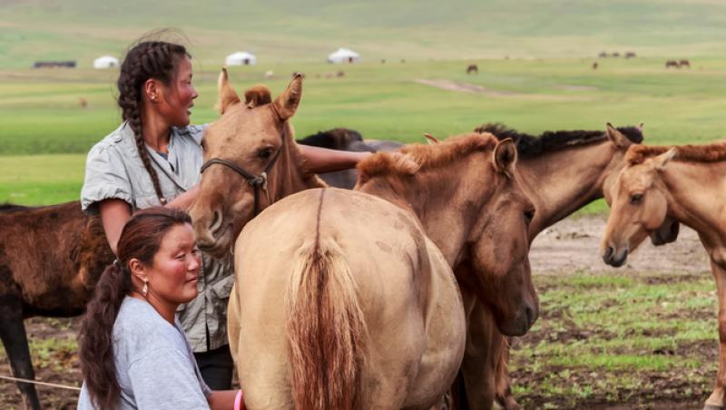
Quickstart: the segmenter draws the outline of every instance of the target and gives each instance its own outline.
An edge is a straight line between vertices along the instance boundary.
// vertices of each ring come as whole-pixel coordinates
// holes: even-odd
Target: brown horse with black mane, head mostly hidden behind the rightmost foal
[[[515,141],[517,175],[535,203],[535,219],[529,226],[529,238],[534,240],[545,228],[603,198],[604,187],[612,185],[624,167],[625,151],[643,141],[642,126],[615,129],[607,124],[605,132],[558,131],[535,137],[489,123],[476,132]],[[678,228],[677,221],[665,220],[652,232],[653,244],[672,242]],[[476,307],[469,318],[463,365],[468,408],[491,408],[495,395],[505,408],[519,408],[509,386],[506,340],[489,317],[486,308]]]

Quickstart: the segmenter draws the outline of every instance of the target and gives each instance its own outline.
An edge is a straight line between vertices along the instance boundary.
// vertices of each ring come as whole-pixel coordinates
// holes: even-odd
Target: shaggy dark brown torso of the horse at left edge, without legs
[[[103,226],[79,201],[0,212],[0,293],[21,295],[26,316],[83,311],[113,260]]]

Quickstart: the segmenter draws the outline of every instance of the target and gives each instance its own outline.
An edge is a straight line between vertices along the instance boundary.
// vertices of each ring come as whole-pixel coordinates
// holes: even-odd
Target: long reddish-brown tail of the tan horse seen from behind
[[[316,239],[293,263],[285,308],[295,408],[360,408],[367,327],[348,261],[335,241]]]

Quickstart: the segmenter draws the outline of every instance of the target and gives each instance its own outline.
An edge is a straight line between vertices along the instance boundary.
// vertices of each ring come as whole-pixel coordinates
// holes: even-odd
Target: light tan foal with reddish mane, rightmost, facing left
[[[603,260],[613,267],[622,266],[669,217],[698,232],[711,257],[719,300],[719,370],[705,408],[726,408],[726,200],[721,195],[726,181],[726,143],[633,146],[625,160],[627,166],[605,190],[612,208],[603,237]]]

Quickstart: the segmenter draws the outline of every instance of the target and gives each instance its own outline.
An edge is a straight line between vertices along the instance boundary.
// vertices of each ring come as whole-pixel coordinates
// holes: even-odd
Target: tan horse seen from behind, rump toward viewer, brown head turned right
[[[511,142],[497,144],[493,137],[468,134],[440,146],[413,146],[402,152],[411,159],[378,154],[361,163],[358,190],[368,195],[307,190],[280,200],[243,230],[236,245],[239,287],[232,295],[237,300],[231,304],[230,325],[238,329],[239,343],[231,340],[231,345],[237,345],[240,380],[251,408],[293,403],[297,408],[312,408],[311,403],[321,403],[315,408],[349,408],[332,405],[346,397],[336,398],[338,391],[357,392],[347,396],[352,400],[348,405],[358,403],[362,408],[436,405],[456,375],[464,342],[463,323],[457,318],[463,319],[463,312],[456,313],[462,307],[452,306],[458,300],[456,282],[445,280],[453,278],[448,266],[471,267],[468,275],[457,278],[469,289],[465,304],[486,300],[501,331],[522,334],[535,320],[536,296],[526,258],[526,222],[532,208],[514,178],[516,154]],[[417,218],[424,230],[417,222],[401,223]],[[293,221],[303,220],[308,222],[292,228]],[[370,229],[373,220],[379,222],[376,229]],[[422,265],[421,260],[427,259],[418,254],[420,240],[411,239],[424,231],[441,247],[444,265],[438,269],[444,271],[429,272],[430,262]],[[270,248],[270,240],[280,244],[278,249]],[[436,249],[426,248],[429,255]],[[351,284],[343,286],[344,279]],[[453,293],[444,284],[453,285]],[[298,302],[286,312],[279,303],[285,288],[309,286],[313,288],[300,290],[301,296],[288,293],[285,303],[322,298],[341,310],[331,311],[325,302],[309,310]],[[327,290],[315,296],[319,287]],[[358,292],[346,297],[346,288]],[[410,292],[419,288],[437,290],[417,296],[423,299],[414,303]],[[335,357],[354,357],[351,347],[341,344],[339,351],[329,351],[318,345],[316,335],[357,328],[330,324],[326,317],[350,311],[358,300],[364,305],[360,317],[365,320],[357,323],[366,323],[369,338],[359,341],[365,343],[360,346],[349,337],[359,356],[348,362],[366,365],[351,365],[352,375],[339,374],[326,364]],[[346,307],[347,302],[353,307]],[[310,320],[307,331],[297,328]],[[285,323],[297,325],[288,325],[286,333]],[[412,323],[425,327],[412,328]],[[462,350],[451,352],[458,346],[457,331],[462,332]],[[437,359],[431,361],[429,356]],[[293,365],[288,370],[289,361]],[[342,386],[360,387],[335,388],[337,384],[326,382],[332,376],[321,379],[320,375],[333,375]],[[321,401],[312,402],[309,395]]]

